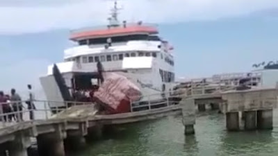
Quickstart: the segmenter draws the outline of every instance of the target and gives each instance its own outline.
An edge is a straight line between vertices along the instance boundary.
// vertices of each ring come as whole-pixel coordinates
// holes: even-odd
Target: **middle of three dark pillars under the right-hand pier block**
[[[256,111],[245,111],[245,130],[256,130]]]

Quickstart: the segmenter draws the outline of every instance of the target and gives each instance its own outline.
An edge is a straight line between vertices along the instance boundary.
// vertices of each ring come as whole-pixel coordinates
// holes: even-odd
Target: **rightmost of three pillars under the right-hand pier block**
[[[257,111],[257,127],[261,130],[272,130],[273,128],[273,111],[258,110]]]

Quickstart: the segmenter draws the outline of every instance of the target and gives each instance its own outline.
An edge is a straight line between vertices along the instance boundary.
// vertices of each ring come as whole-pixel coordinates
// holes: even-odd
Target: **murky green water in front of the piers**
[[[185,137],[181,117],[169,116],[121,126],[76,155],[278,155],[277,117],[272,131],[227,132],[222,114],[204,112],[197,114],[196,134]]]

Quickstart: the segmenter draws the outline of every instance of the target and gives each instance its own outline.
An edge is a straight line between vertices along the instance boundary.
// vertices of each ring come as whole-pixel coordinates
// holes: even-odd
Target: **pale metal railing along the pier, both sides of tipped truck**
[[[158,97],[161,94],[149,95]],[[131,112],[144,110],[154,110],[160,107],[168,107],[179,104],[181,96],[174,96],[170,93],[165,94],[165,98],[160,98],[155,101],[136,102],[131,101]],[[26,103],[29,101],[9,101],[0,103],[0,128],[21,123],[25,121],[48,120],[53,119],[54,114],[68,110],[68,108],[78,105],[95,105],[93,102],[78,102],[78,101],[32,101],[35,107],[28,107]],[[56,107],[50,107],[56,104]],[[58,107],[58,105],[63,105]],[[70,118],[71,116],[65,116]],[[60,116],[59,116],[60,118]]]

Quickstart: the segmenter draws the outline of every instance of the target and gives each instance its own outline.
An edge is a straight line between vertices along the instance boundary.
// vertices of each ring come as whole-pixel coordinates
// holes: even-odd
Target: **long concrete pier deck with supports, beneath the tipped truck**
[[[85,105],[83,109],[78,109],[76,112],[79,114],[72,112],[51,116],[44,120],[1,125],[0,155],[27,156],[27,149],[31,147],[30,138],[35,137],[38,144],[38,155],[65,156],[66,146],[64,145],[73,150],[83,148],[86,145],[85,136],[101,137],[104,126],[154,120],[181,114],[180,105],[170,105],[140,112],[98,114],[96,116],[94,112],[87,109],[92,106]]]

